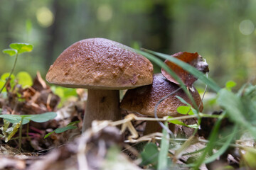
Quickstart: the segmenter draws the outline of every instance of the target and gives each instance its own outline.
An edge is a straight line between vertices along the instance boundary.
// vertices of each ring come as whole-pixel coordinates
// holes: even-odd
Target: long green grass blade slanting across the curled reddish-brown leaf
[[[154,52],[154,51],[146,50],[146,49],[143,49],[143,50],[145,52],[149,52],[152,55],[156,55],[156,56],[161,57],[161,58],[163,58],[165,60],[169,60],[170,62],[174,62],[175,64],[177,64],[178,66],[180,66],[184,70],[186,70],[187,72],[193,74],[193,76],[197,77],[198,79],[201,79],[201,81],[203,81],[205,84],[208,84],[210,89],[212,89],[213,91],[218,92],[220,90],[220,87],[212,79],[206,77],[205,74],[203,74],[202,72],[198,71],[198,69],[194,68],[190,64],[188,64],[186,62],[183,62],[181,60],[178,60],[175,57],[172,57],[171,55],[165,55],[165,54],[162,54],[160,52]],[[178,82],[178,83],[180,83],[180,82]]]

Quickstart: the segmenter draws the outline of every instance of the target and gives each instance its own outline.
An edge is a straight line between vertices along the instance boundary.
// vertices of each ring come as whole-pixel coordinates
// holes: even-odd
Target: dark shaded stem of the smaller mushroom
[[[143,135],[149,135],[154,132],[162,132],[163,128],[157,121],[146,121],[146,128],[143,132]],[[169,130],[174,132],[175,125],[173,123],[169,123]]]

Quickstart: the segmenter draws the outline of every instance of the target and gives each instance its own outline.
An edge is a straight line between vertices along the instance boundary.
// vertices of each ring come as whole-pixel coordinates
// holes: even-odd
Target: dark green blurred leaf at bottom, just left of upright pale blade
[[[142,163],[141,165],[156,165],[158,160],[159,150],[154,143],[148,143],[144,147],[144,151],[141,153]]]

